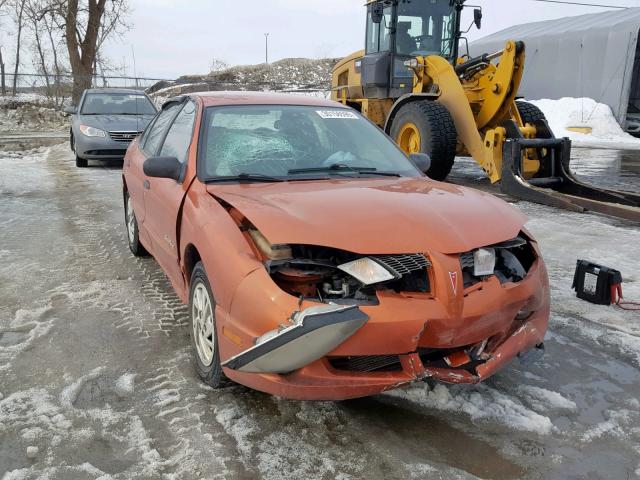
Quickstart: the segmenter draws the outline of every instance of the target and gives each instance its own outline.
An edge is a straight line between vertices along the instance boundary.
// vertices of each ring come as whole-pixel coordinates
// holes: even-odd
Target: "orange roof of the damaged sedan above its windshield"
[[[314,107],[344,107],[341,103],[310,95],[275,92],[197,92],[189,97],[200,98],[205,107],[221,105],[303,105]],[[348,108],[348,107],[345,107]]]

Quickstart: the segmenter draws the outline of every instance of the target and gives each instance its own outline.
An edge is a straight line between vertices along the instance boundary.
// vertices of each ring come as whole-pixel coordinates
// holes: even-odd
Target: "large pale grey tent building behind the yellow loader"
[[[526,45],[520,94],[527,99],[590,97],[625,125],[640,114],[640,8],[516,25],[470,45],[471,56]]]

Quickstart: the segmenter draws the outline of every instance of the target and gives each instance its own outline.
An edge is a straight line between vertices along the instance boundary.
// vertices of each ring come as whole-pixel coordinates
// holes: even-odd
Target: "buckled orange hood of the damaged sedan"
[[[526,216],[483,192],[425,178],[212,184],[273,244],[361,254],[462,253],[518,235]]]

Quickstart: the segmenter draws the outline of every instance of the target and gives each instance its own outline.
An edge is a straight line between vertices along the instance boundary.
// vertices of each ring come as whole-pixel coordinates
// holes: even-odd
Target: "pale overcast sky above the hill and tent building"
[[[131,29],[123,38],[112,41],[106,54],[114,64],[126,65],[128,73],[133,74],[133,46],[138,76],[172,79],[207,73],[213,58],[235,65],[263,62],[265,32],[270,34],[270,60],[342,57],[364,45],[365,0],[130,2]],[[470,40],[515,24],[606,10],[534,0],[469,3],[481,5],[484,12],[483,28],[481,31],[473,28],[468,35]],[[582,3],[640,7],[640,0],[582,0]],[[467,10],[465,25],[472,17],[472,9]]]

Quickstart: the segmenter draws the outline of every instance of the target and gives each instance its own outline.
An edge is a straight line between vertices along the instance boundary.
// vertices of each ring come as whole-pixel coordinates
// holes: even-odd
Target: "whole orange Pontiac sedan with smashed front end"
[[[549,286],[525,216],[428,169],[334,102],[167,102],[125,158],[126,226],[189,304],[202,380],[345,399],[539,357]]]

